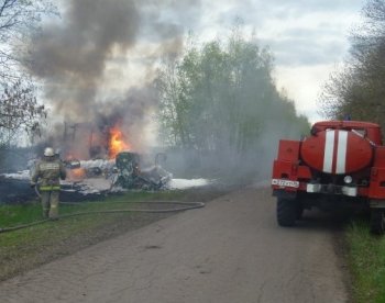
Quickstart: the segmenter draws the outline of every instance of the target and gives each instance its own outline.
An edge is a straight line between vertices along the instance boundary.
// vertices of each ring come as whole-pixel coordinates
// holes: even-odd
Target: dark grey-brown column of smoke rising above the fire
[[[135,43],[139,11],[125,0],[72,1],[62,21],[34,40],[32,71],[58,113],[92,119],[106,64],[114,47],[123,54]]]

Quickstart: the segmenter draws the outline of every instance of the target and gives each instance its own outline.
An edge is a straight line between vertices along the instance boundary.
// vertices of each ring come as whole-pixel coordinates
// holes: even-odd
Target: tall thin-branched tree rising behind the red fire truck
[[[385,1],[367,1],[362,14],[364,22],[351,34],[350,57],[323,88],[321,113],[385,127]]]

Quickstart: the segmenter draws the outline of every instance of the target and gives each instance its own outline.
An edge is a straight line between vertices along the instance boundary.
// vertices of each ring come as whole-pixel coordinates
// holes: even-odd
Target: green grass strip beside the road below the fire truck
[[[354,302],[385,302],[385,237],[371,235],[369,222],[356,220],[345,238]]]

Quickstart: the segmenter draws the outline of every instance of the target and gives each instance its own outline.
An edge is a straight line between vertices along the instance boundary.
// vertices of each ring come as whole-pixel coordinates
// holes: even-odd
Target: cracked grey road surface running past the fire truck
[[[334,227],[244,189],[0,284],[0,302],[348,302]]]

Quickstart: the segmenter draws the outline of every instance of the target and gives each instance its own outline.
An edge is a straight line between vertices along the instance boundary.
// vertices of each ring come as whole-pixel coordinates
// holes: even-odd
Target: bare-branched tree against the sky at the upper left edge
[[[28,58],[23,43],[47,14],[56,14],[50,0],[0,0],[0,143],[21,130],[38,131],[46,117],[22,61]]]

